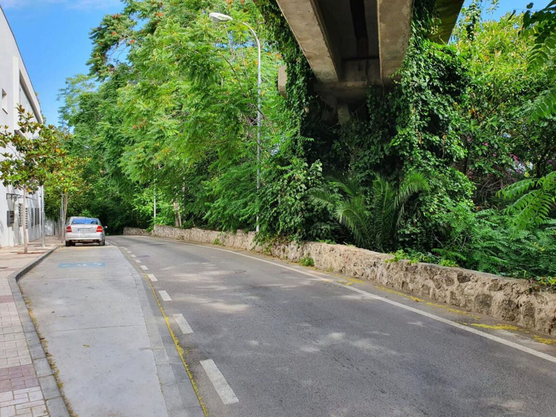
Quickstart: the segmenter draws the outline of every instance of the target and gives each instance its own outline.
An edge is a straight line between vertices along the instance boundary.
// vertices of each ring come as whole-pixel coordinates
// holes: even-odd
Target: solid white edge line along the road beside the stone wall
[[[151,236],[149,236],[149,237],[151,237]],[[180,241],[176,241],[176,240],[160,239],[160,237],[151,237],[151,239],[163,240],[165,242],[177,242],[177,243],[181,243],[181,244],[189,245],[189,246],[201,246],[201,247],[206,247],[207,249],[214,249],[214,250],[217,250],[217,251],[229,252],[230,254],[245,256],[245,257],[250,258],[250,259],[255,259],[257,261],[266,262],[267,264],[271,264],[271,265],[279,266],[279,267],[284,268],[284,269],[289,269],[291,271],[299,272],[299,274],[311,276],[311,277],[314,277],[314,278],[319,279],[321,281],[326,281],[326,282],[330,282],[331,284],[341,286],[342,288],[345,288],[346,290],[351,290],[351,291],[354,291],[354,292],[358,292],[359,294],[364,295],[364,296],[368,297],[369,299],[387,302],[388,304],[395,305],[396,307],[400,307],[401,309],[413,311],[416,314],[420,314],[421,316],[429,317],[429,319],[440,321],[440,322],[442,322],[444,324],[447,324],[449,326],[457,327],[458,329],[468,331],[470,333],[473,333],[473,334],[481,336],[481,337],[485,337],[485,339],[489,339],[489,340],[498,342],[500,344],[503,344],[503,345],[506,345],[506,346],[509,346],[509,347],[513,347],[514,349],[520,350],[522,352],[528,353],[528,354],[533,355],[533,356],[537,356],[537,358],[545,359],[545,360],[548,360],[550,362],[556,363],[556,357],[555,356],[548,355],[548,354],[545,354],[543,352],[539,352],[538,350],[534,350],[534,349],[531,349],[530,347],[520,345],[520,344],[515,343],[513,341],[510,341],[510,340],[503,339],[502,337],[494,336],[494,335],[491,335],[490,333],[486,333],[484,331],[474,329],[473,327],[468,327],[468,326],[465,326],[463,324],[456,323],[455,321],[444,319],[444,317],[440,317],[440,316],[437,316],[435,314],[431,314],[431,313],[423,311],[423,310],[415,309],[414,307],[410,307],[408,305],[401,304],[401,302],[392,301],[392,300],[386,299],[384,297],[381,297],[379,295],[371,294],[370,292],[360,290],[359,288],[356,288],[354,286],[346,286],[346,285],[337,284],[336,282],[334,282],[332,280],[323,278],[323,277],[315,275],[315,274],[311,274],[311,272],[301,271],[299,269],[292,268],[291,266],[280,265],[280,264],[277,264],[276,262],[267,261],[266,259],[260,259],[260,258],[257,258],[255,256],[241,254],[239,252],[234,252],[234,251],[230,251],[230,250],[227,250],[227,249],[221,249],[220,247],[196,245],[196,244],[190,244],[190,243],[187,243],[187,242],[180,242]]]

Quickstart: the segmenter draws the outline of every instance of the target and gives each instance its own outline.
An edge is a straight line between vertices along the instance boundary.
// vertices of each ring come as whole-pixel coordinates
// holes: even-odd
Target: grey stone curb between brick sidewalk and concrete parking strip
[[[40,264],[44,258],[51,255],[55,250],[58,249],[58,245],[53,247],[51,250],[44,252],[37,259],[29,262],[19,271],[13,272],[13,274],[8,276],[9,287],[12,290],[13,299],[16,303],[17,312],[19,314],[19,320],[23,327],[23,333],[25,339],[27,340],[27,347],[29,349],[29,354],[31,355],[31,360],[33,361],[33,366],[37,374],[39,385],[41,386],[42,394],[44,396],[44,402],[46,403],[48,414],[51,417],[71,417],[66,403],[62,397],[62,394],[58,388],[56,378],[54,378],[54,371],[52,370],[46,353],[39,339],[37,329],[31,319],[31,314],[27,308],[27,304],[23,299],[21,294],[21,289],[19,289],[18,281],[29,272],[33,267]]]

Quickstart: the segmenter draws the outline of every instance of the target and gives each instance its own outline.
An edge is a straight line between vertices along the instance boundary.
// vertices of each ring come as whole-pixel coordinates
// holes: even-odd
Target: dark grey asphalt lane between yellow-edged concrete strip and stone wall
[[[211,416],[556,415],[556,363],[352,288],[449,320],[465,315],[263,256],[110,241],[156,280]]]

